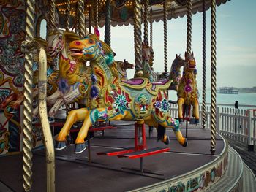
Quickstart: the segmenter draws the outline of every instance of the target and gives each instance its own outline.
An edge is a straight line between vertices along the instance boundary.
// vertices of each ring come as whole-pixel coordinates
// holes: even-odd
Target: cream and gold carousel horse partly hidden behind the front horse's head
[[[87,85],[84,83],[86,77],[86,64],[77,64],[69,54],[68,45],[78,35],[71,31],[56,30],[48,34],[47,52],[52,58],[59,58],[59,80],[58,89],[47,97],[48,105],[53,105],[49,111],[50,122],[63,104],[83,100]],[[38,107],[34,109],[34,122],[37,122]]]

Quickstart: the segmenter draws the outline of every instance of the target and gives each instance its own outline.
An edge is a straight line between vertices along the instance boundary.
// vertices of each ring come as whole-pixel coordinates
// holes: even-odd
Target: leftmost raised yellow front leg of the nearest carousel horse
[[[63,128],[61,128],[61,131],[59,132],[59,135],[56,139],[56,141],[57,141],[56,149],[57,150],[61,150],[66,147],[66,137],[69,134],[70,128],[72,127],[72,125],[75,122],[77,122],[79,120],[83,120],[87,114],[88,114],[87,108],[72,110],[71,112],[69,112],[69,115],[67,115],[67,120],[66,120]]]

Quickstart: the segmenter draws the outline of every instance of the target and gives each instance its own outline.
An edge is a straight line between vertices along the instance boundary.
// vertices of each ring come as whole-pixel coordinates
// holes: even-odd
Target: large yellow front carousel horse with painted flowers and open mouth
[[[69,130],[78,120],[83,120],[83,125],[75,140],[75,153],[86,149],[84,139],[90,126],[97,121],[107,120],[143,120],[148,126],[157,127],[158,139],[165,144],[169,143],[165,128],[170,127],[178,142],[187,146],[187,139],[181,134],[178,120],[170,117],[166,92],[170,81],[151,83],[146,78],[124,82],[116,80],[102,55],[102,43],[99,41],[99,31],[96,30],[94,34],[69,44],[69,50],[77,61],[90,62],[91,80],[87,82],[87,107],[69,112],[56,138],[56,149],[66,147]]]

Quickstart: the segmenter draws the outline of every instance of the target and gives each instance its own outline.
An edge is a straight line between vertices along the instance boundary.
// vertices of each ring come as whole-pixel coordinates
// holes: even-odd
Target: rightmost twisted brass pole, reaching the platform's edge
[[[211,0],[211,154],[216,147],[216,1]]]

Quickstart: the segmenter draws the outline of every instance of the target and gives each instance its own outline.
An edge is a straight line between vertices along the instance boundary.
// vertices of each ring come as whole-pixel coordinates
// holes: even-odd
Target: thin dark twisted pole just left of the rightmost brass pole
[[[206,0],[203,0],[203,101],[202,126],[206,128]]]

